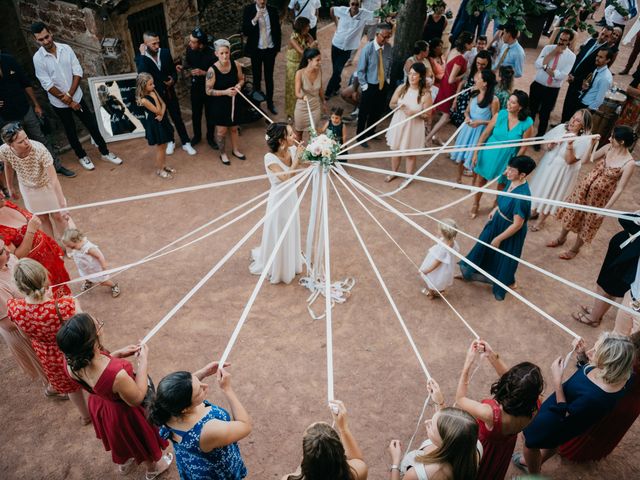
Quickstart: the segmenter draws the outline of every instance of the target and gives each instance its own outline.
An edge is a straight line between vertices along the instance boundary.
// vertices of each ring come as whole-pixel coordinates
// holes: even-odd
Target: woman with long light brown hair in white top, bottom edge
[[[430,389],[442,398],[435,381],[430,382]],[[440,405],[444,405],[444,400],[436,408]],[[425,426],[428,438],[404,459],[400,441],[391,441],[389,478],[399,480],[404,473],[404,480],[475,480],[482,458],[475,419],[464,410],[447,407],[439,409]]]

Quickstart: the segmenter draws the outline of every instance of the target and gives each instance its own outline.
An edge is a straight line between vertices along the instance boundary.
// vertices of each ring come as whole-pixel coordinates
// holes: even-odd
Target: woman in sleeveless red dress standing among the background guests
[[[444,68],[444,76],[440,82],[438,95],[436,95],[436,99],[433,101],[434,104],[441,102],[445,98],[449,98],[459,90],[460,82],[462,82],[462,79],[467,72],[467,60],[464,58],[464,54],[471,50],[472,47],[473,36],[469,32],[462,32],[456,39],[455,51],[452,50],[451,53],[449,53],[450,60]],[[442,116],[438,120],[438,123],[433,126],[430,137],[427,139],[427,143],[430,143],[432,139],[435,139],[436,133],[438,133],[449,121],[452,104],[453,99],[450,99],[436,107],[436,110],[440,111]]]

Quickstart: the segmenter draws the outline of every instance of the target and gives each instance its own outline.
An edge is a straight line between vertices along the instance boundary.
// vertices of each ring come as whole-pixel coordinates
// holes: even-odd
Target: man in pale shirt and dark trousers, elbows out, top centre
[[[331,7],[331,18],[336,23],[336,33],[331,41],[331,64],[333,73],[327,83],[325,98],[340,92],[342,70],[352,50],[360,46],[360,38],[373,12],[360,8],[360,0],[350,0],[349,7]]]

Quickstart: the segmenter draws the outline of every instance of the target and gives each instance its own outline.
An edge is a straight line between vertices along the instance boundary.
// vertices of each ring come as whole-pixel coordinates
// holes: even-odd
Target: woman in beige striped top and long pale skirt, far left
[[[38,214],[67,206],[62,193],[53,158],[40,142],[29,140],[19,123],[10,123],[2,128],[0,161],[4,162],[5,177],[9,194],[14,200],[20,200],[20,194],[13,184],[13,173],[18,177],[18,186],[27,210]],[[42,230],[54,237],[54,226],[58,236],[67,228],[69,216],[61,212],[49,215],[39,214]],[[51,217],[51,218],[50,218]],[[53,220],[53,224],[51,222]]]

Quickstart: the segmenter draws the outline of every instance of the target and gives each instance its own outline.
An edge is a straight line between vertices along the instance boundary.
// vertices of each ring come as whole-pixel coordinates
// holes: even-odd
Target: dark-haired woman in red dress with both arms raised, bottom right
[[[467,398],[470,371],[481,354],[485,354],[500,379],[491,385],[490,399],[478,402]],[[484,448],[478,480],[503,479],[509,469],[511,454],[520,433],[538,409],[543,379],[540,368],[523,362],[507,366],[489,344],[474,340],[458,382],[456,405],[475,417],[480,427],[479,439]]]

